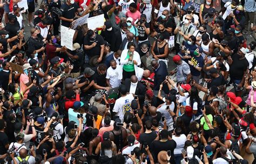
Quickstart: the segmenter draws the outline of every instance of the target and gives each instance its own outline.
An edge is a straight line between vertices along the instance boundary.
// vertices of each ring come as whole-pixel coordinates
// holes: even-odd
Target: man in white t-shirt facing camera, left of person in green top
[[[107,68],[106,84],[111,88],[119,87],[123,79],[123,69],[120,65],[117,65],[116,60],[111,60],[110,66]]]

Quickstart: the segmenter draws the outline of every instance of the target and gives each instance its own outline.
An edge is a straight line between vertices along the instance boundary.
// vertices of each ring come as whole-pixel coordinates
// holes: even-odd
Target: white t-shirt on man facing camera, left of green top
[[[109,79],[112,88],[119,87],[123,78],[122,72],[123,69],[120,65],[117,65],[116,69],[113,69],[112,67],[107,68],[106,79]]]

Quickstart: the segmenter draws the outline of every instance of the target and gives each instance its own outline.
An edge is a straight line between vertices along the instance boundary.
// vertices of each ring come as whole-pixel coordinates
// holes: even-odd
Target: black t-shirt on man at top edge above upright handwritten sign
[[[73,19],[76,15],[76,11],[78,9],[78,5],[76,3],[71,4],[70,6],[66,3],[64,3],[60,10],[62,11],[62,17],[67,18],[67,19]],[[62,25],[65,27],[69,27],[71,22],[66,22],[62,20]]]

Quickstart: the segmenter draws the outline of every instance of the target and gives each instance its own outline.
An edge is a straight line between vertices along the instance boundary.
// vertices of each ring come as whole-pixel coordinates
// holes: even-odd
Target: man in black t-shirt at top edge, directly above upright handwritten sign
[[[68,0],[61,6],[60,11],[62,11],[62,16],[60,16],[59,19],[62,20],[63,26],[70,26],[73,22],[73,18],[76,16],[77,9],[78,6],[74,0]]]

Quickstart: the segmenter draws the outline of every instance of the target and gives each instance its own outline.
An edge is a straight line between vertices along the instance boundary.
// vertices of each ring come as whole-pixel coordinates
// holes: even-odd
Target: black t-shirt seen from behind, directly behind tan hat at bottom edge
[[[152,149],[152,155],[154,156],[154,160],[157,161],[157,155],[160,151],[171,151],[171,161],[170,163],[175,163],[174,160],[174,148],[176,148],[177,144],[174,140],[167,140],[165,142],[161,141],[153,141],[151,144]]]

